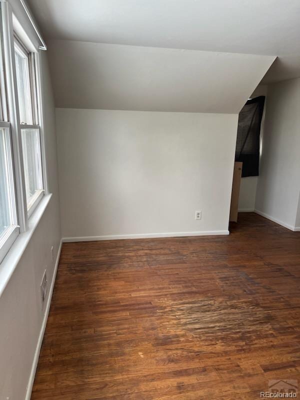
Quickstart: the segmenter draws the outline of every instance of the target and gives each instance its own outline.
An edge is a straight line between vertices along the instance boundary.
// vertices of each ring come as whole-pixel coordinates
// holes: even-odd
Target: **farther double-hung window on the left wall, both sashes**
[[[21,125],[27,210],[30,215],[43,195],[40,131],[37,125],[34,55],[15,37],[14,57]]]

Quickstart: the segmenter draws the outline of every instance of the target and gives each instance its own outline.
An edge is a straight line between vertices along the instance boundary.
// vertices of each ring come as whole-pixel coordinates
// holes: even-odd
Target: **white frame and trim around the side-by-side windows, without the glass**
[[[26,8],[24,7],[26,11]],[[43,130],[43,97],[42,97],[42,76],[40,71],[39,50],[46,50],[46,46],[39,46],[37,43],[43,41],[38,36],[38,31],[27,13],[30,23],[37,33],[38,41],[31,41],[32,32],[28,35],[25,29],[16,19],[15,10],[7,1],[0,2],[0,127],[9,128],[10,154],[12,160],[12,179],[14,183],[14,202],[16,223],[11,232],[3,234],[0,240],[0,270],[4,257],[9,258],[14,251],[14,241],[22,233],[32,230],[32,223],[36,217],[43,212],[45,204],[49,199],[42,201],[44,195],[50,194],[47,185],[45,140]],[[26,11],[27,12],[27,11]],[[17,15],[18,16],[18,15]],[[29,38],[30,37],[30,38]],[[34,78],[30,82],[30,100],[32,102],[32,124],[21,124],[19,118],[19,103],[16,81],[16,66],[14,58],[14,42],[17,39],[18,45],[22,44],[24,49],[28,49],[28,69],[29,74]],[[24,43],[24,44],[23,44]],[[44,44],[44,43],[43,43]],[[21,129],[32,128],[39,131],[40,143],[40,173],[42,176],[43,189],[36,195],[34,202],[27,209],[24,164],[21,143]],[[40,204],[40,205],[39,205]],[[36,212],[33,212],[35,211]],[[33,215],[34,214],[34,215]],[[32,222],[30,222],[32,217]],[[34,222],[35,223],[35,222]],[[8,234],[9,233],[9,234]],[[26,236],[24,236],[26,237]],[[20,240],[22,240],[20,238]],[[18,241],[19,243],[19,241]],[[11,251],[9,251],[11,248]],[[17,248],[17,247],[15,247]],[[9,254],[8,254],[9,253]],[[5,257],[5,259],[8,259]],[[3,261],[6,268],[6,261]]]

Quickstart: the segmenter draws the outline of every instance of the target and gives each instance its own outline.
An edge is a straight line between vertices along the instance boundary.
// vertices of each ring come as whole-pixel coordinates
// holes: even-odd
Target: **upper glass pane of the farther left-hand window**
[[[32,124],[32,105],[28,55],[15,43],[14,56],[20,123],[27,123],[30,125]]]

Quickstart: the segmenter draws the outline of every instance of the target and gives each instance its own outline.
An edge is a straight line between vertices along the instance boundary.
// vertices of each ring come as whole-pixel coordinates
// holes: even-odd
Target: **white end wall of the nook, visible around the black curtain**
[[[266,100],[267,100],[267,85],[259,84],[256,87],[256,89],[253,91],[253,93],[250,95],[250,98],[258,97],[258,96],[265,96],[264,109],[263,109],[261,127],[260,127],[260,141],[262,141],[265,107],[266,107]],[[238,210],[239,211],[254,211],[255,200],[256,200],[257,180],[258,180],[258,176],[246,176],[246,177],[241,178],[240,189],[239,189],[239,198],[238,198]]]

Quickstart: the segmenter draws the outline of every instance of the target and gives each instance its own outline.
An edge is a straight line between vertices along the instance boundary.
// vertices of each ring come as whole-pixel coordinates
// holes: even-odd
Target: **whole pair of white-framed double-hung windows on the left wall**
[[[0,1],[0,262],[44,194],[37,43]]]

